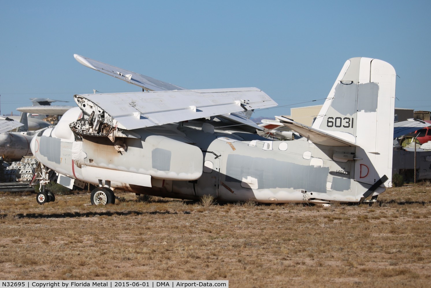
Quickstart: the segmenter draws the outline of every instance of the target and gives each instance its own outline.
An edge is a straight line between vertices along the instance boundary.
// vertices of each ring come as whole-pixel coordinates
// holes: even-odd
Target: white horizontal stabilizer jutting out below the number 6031
[[[347,140],[335,137],[328,133],[322,132],[320,130],[305,126],[301,123],[297,123],[292,119],[286,118],[284,116],[275,116],[276,119],[280,120],[280,123],[294,132],[299,133],[301,136],[307,138],[307,140],[313,142],[314,144],[326,145],[326,146],[352,146],[355,147],[356,144],[349,142]],[[277,121],[274,121],[276,124]]]

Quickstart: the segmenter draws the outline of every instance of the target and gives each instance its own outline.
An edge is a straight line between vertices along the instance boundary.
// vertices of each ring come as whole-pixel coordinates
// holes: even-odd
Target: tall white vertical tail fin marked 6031
[[[376,187],[392,185],[395,80],[384,61],[347,60],[312,125],[355,143],[354,180]]]

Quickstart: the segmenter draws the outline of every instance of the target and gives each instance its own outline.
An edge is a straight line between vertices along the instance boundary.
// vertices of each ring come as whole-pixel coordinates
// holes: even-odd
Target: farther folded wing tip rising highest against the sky
[[[82,65],[142,87],[149,91],[168,91],[168,90],[186,90],[183,87],[176,86],[171,83],[163,82],[145,75],[141,75],[129,70],[125,70],[119,67],[115,67],[106,63],[102,63],[90,58],[83,57],[81,55],[73,55],[79,63]]]

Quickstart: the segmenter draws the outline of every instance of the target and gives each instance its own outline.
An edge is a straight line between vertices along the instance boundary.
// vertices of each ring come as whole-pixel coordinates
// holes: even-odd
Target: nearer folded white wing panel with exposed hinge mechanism
[[[112,119],[103,116],[105,123],[126,130],[277,105],[257,88],[84,94],[74,99],[86,115],[93,115],[91,120],[107,113]]]

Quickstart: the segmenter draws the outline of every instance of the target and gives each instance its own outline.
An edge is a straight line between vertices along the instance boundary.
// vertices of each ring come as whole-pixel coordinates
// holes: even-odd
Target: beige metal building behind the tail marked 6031
[[[311,126],[320,109],[322,109],[322,105],[290,108],[289,118],[306,126]],[[395,115],[396,121],[406,121],[413,118],[413,109],[395,108]]]

